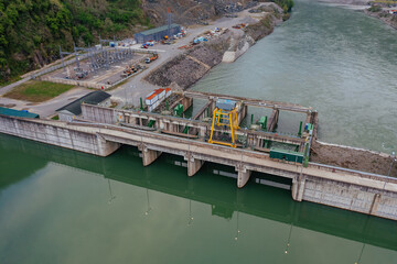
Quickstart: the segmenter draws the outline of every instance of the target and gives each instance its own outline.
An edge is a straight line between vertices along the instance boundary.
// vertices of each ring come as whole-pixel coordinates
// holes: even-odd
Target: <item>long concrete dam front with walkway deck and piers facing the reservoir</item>
[[[237,186],[249,180],[251,172],[292,179],[291,196],[297,201],[312,201],[377,217],[397,220],[397,179],[384,175],[310,163],[270,158],[264,152],[232,148],[202,140],[131,129],[112,123],[63,122],[0,116],[0,132],[75,151],[108,156],[121,144],[138,146],[143,166],[162,152],[183,156],[187,175],[193,176],[205,162],[232,166]]]

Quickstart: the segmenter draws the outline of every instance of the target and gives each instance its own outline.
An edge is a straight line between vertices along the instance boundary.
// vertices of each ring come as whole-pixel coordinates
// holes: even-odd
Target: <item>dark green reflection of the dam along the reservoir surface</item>
[[[311,202],[296,202],[290,198],[289,190],[256,184],[258,182],[256,176],[244,189],[238,189],[234,178],[212,174],[213,166],[216,165],[204,166],[198,175],[190,178],[185,176],[184,167],[169,164],[170,160],[178,161],[180,157],[163,155],[154,166],[144,168],[138,157],[138,151],[132,147],[122,147],[116,154],[101,158],[7,135],[0,135],[0,153],[4,158],[4,153],[10,156],[19,153],[24,156],[25,161],[41,161],[36,163],[36,168],[28,166],[23,172],[21,170],[18,180],[29,179],[37,169],[45,166],[45,163],[58,164],[76,172],[95,175],[95,178],[98,179],[105,178],[108,187],[108,204],[115,204],[118,200],[114,188],[116,183],[117,185],[122,183],[126,186],[143,188],[146,190],[144,216],[152,212],[152,191],[184,198],[189,200],[187,226],[193,223],[194,205],[208,205],[213,217],[235,222],[234,240],[236,241],[239,241],[242,237],[242,229],[251,224],[249,221],[242,222],[242,213],[243,219],[254,216],[285,223],[288,224],[285,254],[290,253],[291,241],[297,239],[293,235],[296,228],[363,243],[356,258],[357,263],[365,251],[365,244],[397,250],[397,237],[395,235],[397,226],[394,221]],[[174,164],[174,162],[172,163]],[[12,166],[12,164],[9,165]],[[233,170],[233,168],[230,169]],[[9,173],[9,170],[6,173],[3,170],[2,179],[15,184],[14,179],[8,177]],[[267,180],[269,179],[271,177]],[[2,182],[0,194],[9,186],[8,183]],[[120,187],[117,189],[119,191]],[[122,197],[120,199],[122,200]],[[201,207],[197,207],[198,211],[203,210]],[[201,215],[202,212],[198,212],[198,216]]]

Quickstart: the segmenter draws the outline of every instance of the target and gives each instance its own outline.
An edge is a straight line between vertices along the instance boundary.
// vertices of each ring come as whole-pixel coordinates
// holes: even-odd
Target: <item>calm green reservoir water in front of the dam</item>
[[[214,164],[189,178],[183,160],[144,168],[133,147],[0,140],[0,263],[396,263],[395,221],[296,202],[257,183],[270,176],[238,189]]]

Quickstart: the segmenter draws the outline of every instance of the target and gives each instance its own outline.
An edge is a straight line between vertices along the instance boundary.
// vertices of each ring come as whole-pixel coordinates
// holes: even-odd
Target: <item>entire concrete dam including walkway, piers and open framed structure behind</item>
[[[152,164],[161,153],[170,153],[183,156],[189,176],[205,162],[223,164],[235,168],[239,188],[247,184],[251,172],[271,174],[291,180],[291,196],[297,201],[397,220],[397,178],[309,161],[318,130],[318,112],[311,108],[206,92],[174,95],[170,106],[163,101],[152,112],[83,103],[82,117],[72,122],[0,116],[0,132],[98,156],[110,155],[122,144],[132,145],[141,152],[143,166]],[[186,118],[184,112],[197,99],[205,103]],[[236,102],[235,132],[227,122],[222,125],[212,122],[221,119],[212,114],[219,99]],[[249,119],[248,108],[267,109],[270,117],[256,125],[251,118],[249,129],[239,128],[243,120]],[[172,110],[174,116],[164,114]],[[282,111],[303,114],[309,125],[300,129],[298,135],[276,132]],[[237,139],[235,147],[208,143],[210,135],[221,141],[229,140],[232,133]],[[280,145],[292,150],[279,155]]]

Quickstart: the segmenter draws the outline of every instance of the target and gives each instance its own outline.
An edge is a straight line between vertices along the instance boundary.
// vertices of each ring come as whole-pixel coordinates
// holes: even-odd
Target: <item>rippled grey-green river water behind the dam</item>
[[[320,140],[397,148],[397,31],[358,11],[299,1],[289,21],[193,89],[311,106]]]

